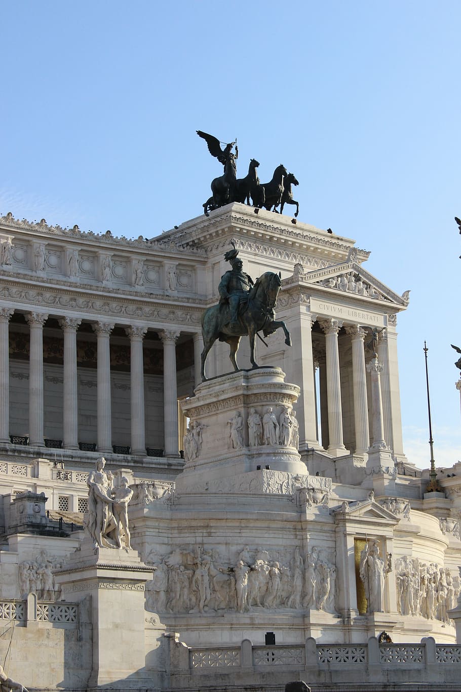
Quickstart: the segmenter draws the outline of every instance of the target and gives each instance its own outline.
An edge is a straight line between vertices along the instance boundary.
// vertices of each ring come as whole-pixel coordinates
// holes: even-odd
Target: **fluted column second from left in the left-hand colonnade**
[[[44,447],[44,323],[48,315],[30,312],[29,347],[29,444]]]

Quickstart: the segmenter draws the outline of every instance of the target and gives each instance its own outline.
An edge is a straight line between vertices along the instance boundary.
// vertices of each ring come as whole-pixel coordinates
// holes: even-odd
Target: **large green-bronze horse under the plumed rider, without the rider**
[[[202,317],[203,352],[201,374],[203,382],[207,379],[205,376],[205,361],[207,360],[209,349],[211,349],[216,339],[229,344],[229,358],[235,371],[238,371],[236,352],[241,336],[245,336],[245,334],[250,339],[250,362],[253,368],[259,367],[254,360],[254,339],[257,331],[262,330],[264,336],[268,336],[276,329],[281,328],[285,333],[285,344],[287,346],[292,345],[290,332],[285,322],[274,320],[274,307],[281,285],[280,273],[274,274],[272,271],[266,271],[256,279],[247,299],[243,300],[238,308],[238,329],[229,328],[228,304],[213,305],[205,310]]]

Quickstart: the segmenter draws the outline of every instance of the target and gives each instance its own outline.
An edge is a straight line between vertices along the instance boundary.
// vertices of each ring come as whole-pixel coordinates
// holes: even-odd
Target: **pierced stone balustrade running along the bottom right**
[[[376,637],[370,637],[366,644],[317,644],[312,637],[303,645],[252,646],[249,639],[244,639],[240,646],[213,648],[187,648],[177,643],[171,655],[178,689],[182,676],[205,674],[209,668],[232,675],[274,671],[274,675],[283,673],[287,680],[290,672],[302,673],[301,679],[314,686],[346,682],[398,684],[409,680],[405,677],[408,675],[415,684],[441,684],[459,680],[461,675],[461,646],[436,644],[433,637],[424,637],[420,644],[379,644]]]

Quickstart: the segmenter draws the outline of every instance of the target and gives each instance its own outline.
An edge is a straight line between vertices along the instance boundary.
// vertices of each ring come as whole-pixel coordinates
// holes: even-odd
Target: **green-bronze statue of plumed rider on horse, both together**
[[[235,371],[238,371],[236,352],[241,336],[247,334],[250,339],[250,362],[253,368],[259,367],[254,359],[254,340],[258,331],[263,331],[264,336],[268,336],[281,328],[285,333],[285,344],[291,346],[290,332],[285,322],[274,319],[277,295],[282,285],[281,274],[266,271],[253,282],[252,278],[242,271],[243,264],[237,255],[238,250],[235,247],[225,253],[225,260],[232,264],[232,270],[221,277],[219,304],[209,307],[203,313],[203,382],[207,379],[207,355],[216,339],[229,344],[229,358]]]

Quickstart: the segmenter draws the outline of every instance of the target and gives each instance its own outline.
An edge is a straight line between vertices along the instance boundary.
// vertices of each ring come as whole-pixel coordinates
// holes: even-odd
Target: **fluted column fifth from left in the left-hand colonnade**
[[[144,358],[142,340],[147,327],[126,327],[131,343],[131,454],[146,455],[144,424]]]

